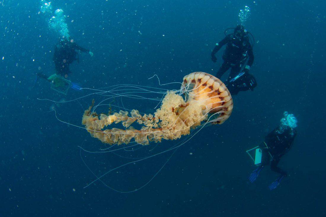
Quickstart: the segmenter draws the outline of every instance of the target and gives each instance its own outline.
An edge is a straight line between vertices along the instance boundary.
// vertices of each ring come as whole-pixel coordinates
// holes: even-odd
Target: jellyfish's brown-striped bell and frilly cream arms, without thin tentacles
[[[141,114],[138,110],[120,110],[119,113],[97,114],[92,105],[84,111],[82,124],[92,137],[107,144],[175,140],[189,135],[201,125],[222,124],[233,109],[233,101],[225,84],[216,77],[193,72],[183,78],[178,91],[167,91],[160,108],[154,114]],[[121,123],[124,128],[109,128]],[[141,125],[138,129],[134,125]]]

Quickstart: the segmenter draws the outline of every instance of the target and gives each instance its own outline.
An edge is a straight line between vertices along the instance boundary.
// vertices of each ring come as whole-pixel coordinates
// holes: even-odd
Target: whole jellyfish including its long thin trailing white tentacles
[[[98,146],[99,142],[88,138],[88,135],[79,140],[82,162],[96,177],[84,188],[98,181],[120,193],[138,191],[150,183],[178,148],[203,127],[222,124],[230,117],[232,97],[223,82],[214,76],[194,72],[186,75],[181,82],[159,82],[160,86],[174,84],[178,85],[176,90],[116,84],[100,89],[82,88],[83,91],[78,93],[90,93],[67,101],[41,99],[51,103],[75,102],[82,108],[86,98],[96,99],[96,104],[93,99],[88,109],[83,108],[83,126],[59,117],[70,117],[66,109],[60,107],[65,112],[52,110],[58,121],[85,129],[102,142]],[[104,99],[97,102],[99,97]],[[137,99],[136,103],[134,99]],[[142,107],[141,111],[129,109],[141,100],[146,100],[146,107]],[[151,105],[156,105],[154,112],[150,111]],[[96,113],[104,106],[109,107],[108,113]],[[164,140],[164,145],[160,145]]]

